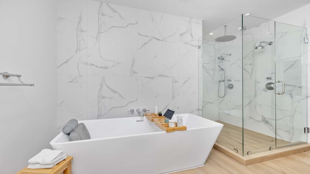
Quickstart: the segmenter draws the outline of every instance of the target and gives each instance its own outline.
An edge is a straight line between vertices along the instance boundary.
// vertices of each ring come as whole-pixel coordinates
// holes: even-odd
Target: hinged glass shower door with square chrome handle
[[[307,142],[307,29],[276,22],[276,146]]]

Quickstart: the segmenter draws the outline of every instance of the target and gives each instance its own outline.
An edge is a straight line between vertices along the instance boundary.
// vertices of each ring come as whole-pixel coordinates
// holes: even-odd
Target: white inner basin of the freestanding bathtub
[[[187,127],[187,130],[222,126],[222,124],[220,123],[192,114],[175,114],[172,116],[172,119],[176,120],[177,116],[183,117],[183,125]],[[146,117],[140,116],[98,120],[82,120],[79,121],[79,123],[85,124],[91,135],[91,140],[135,136],[140,134],[166,133],[165,131],[158,128],[154,124],[154,122],[151,122]],[[61,132],[51,141],[51,144],[66,142],[74,143],[70,142],[68,135]]]

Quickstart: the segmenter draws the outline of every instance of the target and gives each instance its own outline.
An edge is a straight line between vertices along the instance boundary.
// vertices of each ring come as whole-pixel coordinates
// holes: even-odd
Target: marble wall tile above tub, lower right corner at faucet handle
[[[138,78],[89,76],[87,98],[91,119],[134,116],[128,111],[138,108]]]

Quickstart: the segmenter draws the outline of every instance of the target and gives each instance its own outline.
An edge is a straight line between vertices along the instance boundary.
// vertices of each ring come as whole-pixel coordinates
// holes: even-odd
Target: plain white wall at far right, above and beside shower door
[[[308,37],[310,37],[310,4],[299,9],[296,9],[290,13],[284,14],[275,18],[274,20],[277,22],[282,22],[286,24],[296,25],[307,28]],[[309,57],[310,57],[310,43],[308,43],[307,48],[308,53],[308,95],[310,94],[310,64],[309,64]],[[308,127],[310,126],[310,101],[308,98]],[[310,143],[310,135],[308,135],[308,143]]]

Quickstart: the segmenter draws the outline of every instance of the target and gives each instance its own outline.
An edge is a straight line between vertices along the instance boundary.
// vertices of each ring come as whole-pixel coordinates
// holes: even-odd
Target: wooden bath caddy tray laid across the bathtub
[[[152,122],[155,123],[156,126],[158,126],[160,129],[166,132],[171,132],[171,131],[186,131],[186,126],[179,126],[174,128],[169,128],[169,123],[165,123],[165,116],[158,116],[158,114],[145,114],[147,119],[151,120]]]

